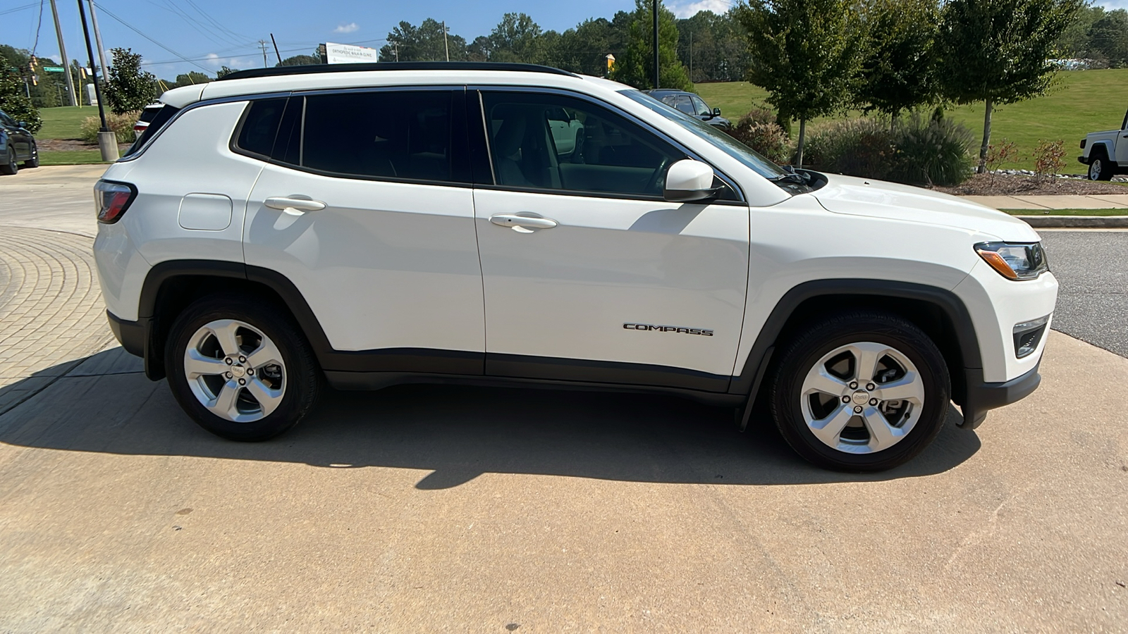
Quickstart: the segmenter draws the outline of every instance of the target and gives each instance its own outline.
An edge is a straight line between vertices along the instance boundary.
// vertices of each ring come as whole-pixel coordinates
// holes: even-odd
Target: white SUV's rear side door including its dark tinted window
[[[465,89],[294,95],[247,208],[246,263],[285,275],[351,369],[482,373]]]

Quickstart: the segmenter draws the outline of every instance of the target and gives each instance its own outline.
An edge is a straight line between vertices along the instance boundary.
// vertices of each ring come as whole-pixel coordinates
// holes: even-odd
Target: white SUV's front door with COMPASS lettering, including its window
[[[474,192],[486,373],[725,390],[748,206],[664,201],[666,169],[686,153],[602,105],[485,91],[483,106],[495,179]]]

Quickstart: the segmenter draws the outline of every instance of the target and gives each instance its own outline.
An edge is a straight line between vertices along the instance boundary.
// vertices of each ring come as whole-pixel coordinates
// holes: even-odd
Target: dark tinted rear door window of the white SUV
[[[451,177],[451,93],[344,93],[306,97],[300,165],[378,178]]]

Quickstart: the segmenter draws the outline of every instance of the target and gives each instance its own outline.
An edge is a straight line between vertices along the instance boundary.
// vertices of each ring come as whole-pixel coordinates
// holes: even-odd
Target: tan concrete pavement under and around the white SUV
[[[1128,359],[1052,332],[1038,391],[872,476],[637,395],[333,393],[233,443],[64,290],[90,182],[35,214],[3,180],[0,354],[77,336],[0,386],[0,632],[1126,631]]]

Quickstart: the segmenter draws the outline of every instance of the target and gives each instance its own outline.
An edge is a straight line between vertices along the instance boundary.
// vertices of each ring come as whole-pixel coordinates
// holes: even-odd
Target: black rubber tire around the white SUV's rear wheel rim
[[[212,413],[190,385],[184,361],[186,349],[201,327],[217,319],[235,319],[261,331],[274,342],[282,356],[284,379],[280,388],[283,390],[281,402],[274,411],[258,420],[235,422]],[[312,411],[324,380],[309,342],[284,309],[267,301],[229,293],[205,297],[176,318],[165,346],[165,368],[173,396],[200,426],[222,438],[249,442],[273,438],[298,424]]]

